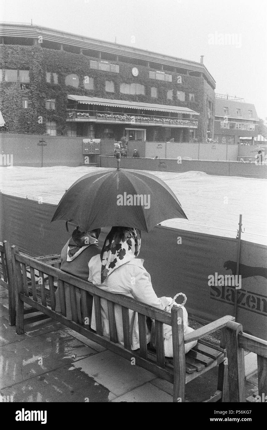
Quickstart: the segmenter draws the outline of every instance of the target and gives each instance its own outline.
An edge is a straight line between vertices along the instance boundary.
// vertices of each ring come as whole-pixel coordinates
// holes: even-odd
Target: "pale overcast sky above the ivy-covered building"
[[[204,64],[215,91],[267,117],[266,0],[0,0],[0,20],[27,22]],[[231,44],[225,34],[233,35]],[[227,43],[227,44],[226,44]]]

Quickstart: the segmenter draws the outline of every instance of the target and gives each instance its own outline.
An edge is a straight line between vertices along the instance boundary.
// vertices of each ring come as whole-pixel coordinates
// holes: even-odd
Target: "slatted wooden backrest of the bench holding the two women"
[[[98,341],[98,343],[103,346],[112,349],[107,346],[106,338],[103,338],[102,329],[102,317],[101,317],[101,304],[100,298],[107,300],[108,306],[108,319],[109,319],[109,342],[116,344],[117,332],[115,324],[115,311],[114,304],[121,305],[122,311],[122,323],[123,323],[123,335],[124,335],[124,347],[116,344],[116,347],[120,350],[124,350],[121,353],[124,357],[136,357],[140,360],[149,359],[149,351],[147,349],[146,340],[146,317],[155,319],[155,341],[157,344],[156,351],[156,362],[154,365],[158,368],[158,375],[162,375],[161,369],[165,367],[165,356],[164,356],[164,336],[163,336],[163,324],[172,326],[173,331],[173,350],[175,351],[173,360],[179,363],[181,356],[185,356],[184,349],[184,331],[182,323],[182,309],[178,307],[173,307],[172,312],[168,313],[164,310],[156,309],[155,307],[149,306],[148,304],[141,303],[134,298],[125,297],[119,294],[112,294],[105,292],[102,289],[94,286],[93,284],[72,276],[62,270],[51,267],[42,261],[37,261],[27,255],[18,252],[17,247],[12,247],[12,258],[15,274],[16,289],[18,290],[18,295],[21,300],[30,304],[31,306],[41,310],[42,312],[52,316],[58,321],[63,322],[63,324],[70,326],[72,329],[82,333],[83,335]],[[30,268],[30,284],[27,277],[27,267]],[[39,282],[36,284],[36,274],[38,276]],[[45,275],[47,275],[47,288],[45,286]],[[58,285],[59,297],[61,304],[61,315],[55,312],[55,283]],[[66,316],[66,302],[65,302],[65,289],[64,284],[70,287],[70,298],[71,298],[71,310],[73,315],[73,321],[69,321],[65,318]],[[29,287],[31,289],[32,298],[29,295]],[[37,287],[37,288],[36,288]],[[77,309],[76,309],[76,299],[75,299],[75,287],[81,290],[81,306],[83,314],[83,324],[78,323]],[[94,297],[94,310],[96,317],[96,334],[95,332],[90,332],[90,327],[88,326],[88,295],[91,294]],[[38,303],[38,295],[39,302]],[[50,304],[48,305],[47,299],[49,299]],[[130,322],[129,322],[129,309],[138,313],[138,328],[140,337],[140,351],[136,353],[131,350],[131,338],[130,338]],[[177,322],[179,321],[179,323]],[[87,332],[87,333],[86,333]],[[113,348],[114,350],[114,348]],[[115,350],[115,352],[118,352]],[[130,355],[127,355],[129,353]],[[153,360],[152,360],[153,361]],[[155,356],[154,356],[155,361]],[[138,362],[137,362],[138,364]],[[142,362],[142,365],[144,363]],[[144,366],[148,370],[155,372],[151,367]],[[165,369],[167,372],[167,369]],[[170,377],[167,378],[170,382],[173,381],[173,372],[168,370]],[[166,375],[165,375],[166,379]]]

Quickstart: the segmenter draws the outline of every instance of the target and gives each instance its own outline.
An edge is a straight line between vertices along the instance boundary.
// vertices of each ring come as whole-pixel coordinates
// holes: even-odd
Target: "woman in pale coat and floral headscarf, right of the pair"
[[[92,257],[88,264],[88,281],[109,293],[132,297],[164,310],[168,304],[166,298],[157,297],[152,287],[150,275],[143,266],[144,260],[137,258],[140,246],[140,230],[132,227],[112,227],[100,255]],[[101,298],[100,303],[103,335],[109,337],[107,301]],[[114,311],[118,342],[123,345],[121,306],[114,304]],[[129,310],[129,320],[131,348],[136,350],[140,347],[138,316],[133,310]],[[91,329],[96,330],[94,306]],[[147,327],[146,340],[149,343],[149,327]]]

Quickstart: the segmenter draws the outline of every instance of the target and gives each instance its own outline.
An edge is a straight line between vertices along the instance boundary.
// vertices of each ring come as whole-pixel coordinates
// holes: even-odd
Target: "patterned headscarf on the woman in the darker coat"
[[[78,257],[81,252],[90,245],[98,243],[98,237],[100,235],[101,228],[96,228],[91,231],[80,231],[77,226],[73,230],[72,236],[68,243],[67,249],[67,261],[73,261],[74,258]]]

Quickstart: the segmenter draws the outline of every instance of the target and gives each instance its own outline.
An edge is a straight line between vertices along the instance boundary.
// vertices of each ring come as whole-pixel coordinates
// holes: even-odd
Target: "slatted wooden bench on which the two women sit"
[[[135,363],[140,367],[171,382],[173,384],[173,402],[184,402],[185,384],[218,366],[218,389],[207,401],[221,402],[225,400],[227,366],[224,365],[226,355],[224,328],[228,321],[234,320],[234,317],[225,316],[184,337],[183,324],[178,324],[178,321],[182,320],[183,315],[181,308],[173,307],[171,313],[167,313],[164,310],[156,309],[133,298],[105,292],[93,284],[69,275],[58,268],[51,267],[42,261],[37,261],[27,255],[23,255],[18,251],[16,246],[12,247],[12,263],[16,288],[16,326],[18,334],[24,333],[23,306],[26,303],[125,359],[131,361],[134,358]],[[27,267],[30,267],[31,285],[28,284],[27,280]],[[41,279],[44,279],[45,275],[48,276],[48,289],[45,288],[44,283],[41,283],[40,297],[36,293],[35,270],[38,271]],[[55,283],[59,289],[57,294],[59,294],[60,298],[61,313],[55,312]],[[73,315],[73,320],[71,321],[66,318],[64,289],[64,285],[66,284],[70,287]],[[80,324],[77,318],[76,287],[81,290],[83,324]],[[89,295],[93,295],[94,297],[96,332],[88,325],[88,320],[90,319],[88,308]],[[100,298],[105,298],[108,304],[109,338],[103,336]],[[114,304],[121,305],[124,346],[117,341]],[[138,313],[139,350],[131,350],[129,309]],[[150,350],[146,344],[147,317],[155,319],[156,351]],[[163,324],[168,324],[172,327],[173,359],[164,356]],[[220,329],[222,330],[221,347],[216,347],[201,340]],[[198,340],[198,343],[185,356],[185,342],[193,340]]]

